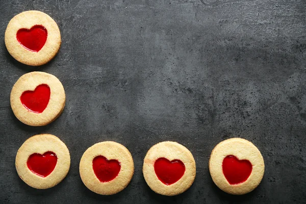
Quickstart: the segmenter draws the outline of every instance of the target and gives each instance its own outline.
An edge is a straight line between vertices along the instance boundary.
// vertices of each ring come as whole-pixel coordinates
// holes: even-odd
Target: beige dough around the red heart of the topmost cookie
[[[22,46],[16,37],[19,29],[31,29],[34,25],[42,25],[47,30],[46,42],[38,52]],[[10,20],[5,32],[5,45],[17,61],[39,66],[56,56],[61,46],[61,34],[57,23],[47,14],[40,11],[24,11]]]

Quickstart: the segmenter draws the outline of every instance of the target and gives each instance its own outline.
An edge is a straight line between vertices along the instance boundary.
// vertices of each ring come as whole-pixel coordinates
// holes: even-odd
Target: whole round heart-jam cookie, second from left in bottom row
[[[85,186],[101,195],[122,191],[134,174],[130,151],[117,142],[100,142],[89,147],[80,162],[80,175]]]

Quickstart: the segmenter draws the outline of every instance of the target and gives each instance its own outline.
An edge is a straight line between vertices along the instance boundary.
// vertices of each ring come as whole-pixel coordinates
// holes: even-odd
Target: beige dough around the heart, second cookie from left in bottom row
[[[109,182],[100,182],[93,170],[93,160],[103,156],[120,163],[118,175]],[[85,186],[101,195],[112,195],[122,191],[132,180],[134,162],[130,151],[122,144],[112,141],[99,142],[89,147],[80,161],[80,176]]]

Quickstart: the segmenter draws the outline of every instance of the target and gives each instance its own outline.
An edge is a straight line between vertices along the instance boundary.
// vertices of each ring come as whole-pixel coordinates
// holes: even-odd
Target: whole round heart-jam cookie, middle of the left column
[[[34,71],[22,75],[11,91],[11,107],[21,122],[42,126],[53,122],[65,107],[65,90],[52,74]]]

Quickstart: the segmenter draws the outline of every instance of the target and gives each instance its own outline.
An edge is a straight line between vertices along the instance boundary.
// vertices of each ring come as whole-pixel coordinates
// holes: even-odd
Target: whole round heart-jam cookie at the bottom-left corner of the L
[[[29,186],[51,188],[60,183],[69,171],[69,150],[54,135],[35,135],[18,149],[15,165],[20,179]]]

